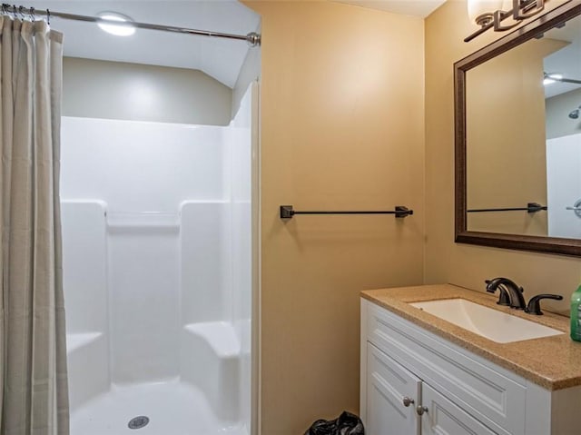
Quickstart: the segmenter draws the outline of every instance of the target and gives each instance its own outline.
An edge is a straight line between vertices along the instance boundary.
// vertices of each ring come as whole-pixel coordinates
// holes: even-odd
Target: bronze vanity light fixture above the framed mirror
[[[519,25],[523,20],[537,15],[545,9],[545,2],[548,0],[512,0],[508,7],[509,10],[503,10],[502,0],[468,0],[468,16],[480,26],[480,28],[464,39],[465,43],[472,41],[478,35],[482,35],[488,29],[494,28],[495,32],[504,32],[508,29]],[[487,7],[491,7],[487,9]],[[511,17],[508,24],[502,22]]]

